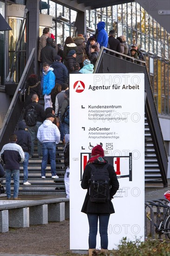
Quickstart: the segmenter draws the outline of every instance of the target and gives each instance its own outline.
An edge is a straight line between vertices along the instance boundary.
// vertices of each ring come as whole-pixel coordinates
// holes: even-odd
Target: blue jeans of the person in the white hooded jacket
[[[52,176],[56,175],[56,143],[55,142],[43,142],[42,143],[42,163],[41,163],[41,176],[46,176],[46,165],[48,161],[48,155],[50,157],[50,165]]]

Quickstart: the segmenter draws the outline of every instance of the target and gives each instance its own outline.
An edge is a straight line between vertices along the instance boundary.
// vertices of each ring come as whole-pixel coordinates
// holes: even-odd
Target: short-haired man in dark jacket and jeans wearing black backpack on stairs
[[[37,138],[37,132],[38,132],[39,126],[46,119],[46,114],[45,114],[45,111],[44,111],[44,107],[42,105],[38,104],[38,101],[39,101],[38,95],[33,94],[32,103],[30,103],[24,111],[24,120],[26,120],[26,113],[27,113],[28,109],[31,108],[31,106],[33,106],[35,108],[36,113],[37,113],[37,122],[36,122],[36,124],[33,125],[33,126],[28,126],[28,131],[31,135],[31,143],[32,143],[30,157],[33,157],[34,141]],[[40,141],[38,141],[38,157],[41,158],[41,155],[42,155],[42,144],[40,143]]]

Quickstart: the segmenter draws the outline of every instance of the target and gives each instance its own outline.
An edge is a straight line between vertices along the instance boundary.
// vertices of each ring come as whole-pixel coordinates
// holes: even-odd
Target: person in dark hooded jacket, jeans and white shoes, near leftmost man
[[[28,162],[29,154],[31,154],[31,135],[25,129],[26,123],[20,121],[18,124],[18,131],[15,131],[15,134],[17,135],[17,144],[23,149],[25,155],[23,162],[23,185],[31,185],[31,183],[28,182]]]

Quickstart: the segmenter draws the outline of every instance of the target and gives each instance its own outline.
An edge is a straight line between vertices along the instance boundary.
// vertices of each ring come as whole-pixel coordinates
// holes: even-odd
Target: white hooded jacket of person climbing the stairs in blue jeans
[[[37,138],[41,143],[55,142],[56,144],[60,141],[60,132],[58,127],[52,123],[49,119],[46,119],[43,124],[39,126]]]

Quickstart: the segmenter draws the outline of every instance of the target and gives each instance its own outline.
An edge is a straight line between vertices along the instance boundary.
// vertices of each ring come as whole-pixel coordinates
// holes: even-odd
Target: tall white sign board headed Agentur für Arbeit
[[[103,145],[118,176],[108,249],[123,237],[144,241],[144,74],[70,75],[70,249],[88,249],[81,178],[92,148]],[[99,232],[97,248],[100,249]]]

